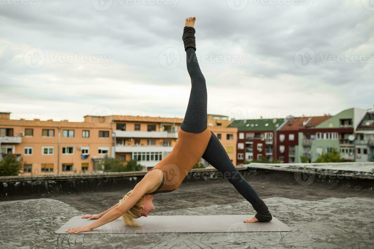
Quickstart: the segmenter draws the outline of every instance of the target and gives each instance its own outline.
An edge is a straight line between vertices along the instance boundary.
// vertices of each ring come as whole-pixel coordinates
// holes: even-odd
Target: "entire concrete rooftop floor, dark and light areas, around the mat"
[[[371,189],[245,177],[291,232],[55,234],[71,217],[110,208],[131,189],[1,197],[0,248],[374,248]],[[227,180],[187,182],[154,197],[152,215],[255,213]]]

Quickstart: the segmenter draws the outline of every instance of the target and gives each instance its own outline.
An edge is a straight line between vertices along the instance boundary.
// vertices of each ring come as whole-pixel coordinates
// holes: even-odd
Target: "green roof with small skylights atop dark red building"
[[[237,119],[228,127],[237,127],[238,131],[274,131],[282,123],[284,118],[274,119]]]

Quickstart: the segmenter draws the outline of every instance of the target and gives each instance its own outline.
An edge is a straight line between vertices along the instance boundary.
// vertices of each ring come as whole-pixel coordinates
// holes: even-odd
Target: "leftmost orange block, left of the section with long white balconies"
[[[0,113],[0,159],[23,159],[23,175],[92,172],[111,154],[111,124],[10,119]]]

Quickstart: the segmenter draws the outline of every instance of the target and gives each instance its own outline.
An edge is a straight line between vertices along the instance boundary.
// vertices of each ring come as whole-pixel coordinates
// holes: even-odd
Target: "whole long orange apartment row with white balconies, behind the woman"
[[[83,122],[68,122],[13,120],[9,112],[0,115],[1,155],[22,156],[23,175],[101,171],[99,162],[105,156],[123,162],[136,159],[149,170],[171,152],[183,122],[150,116],[87,115]],[[236,165],[237,128],[228,124],[227,116],[208,115],[209,129]]]

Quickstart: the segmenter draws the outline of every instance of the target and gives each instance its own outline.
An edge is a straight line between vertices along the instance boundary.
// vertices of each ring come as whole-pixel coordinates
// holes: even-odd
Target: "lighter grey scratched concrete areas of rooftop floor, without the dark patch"
[[[52,199],[0,202],[1,248],[374,248],[374,199],[305,201],[272,197],[266,203],[291,232],[54,234],[83,212]],[[359,203],[359,205],[358,205]],[[184,208],[163,215],[244,214],[248,202]],[[161,215],[156,214],[156,215]],[[234,222],[233,222],[234,223]]]

